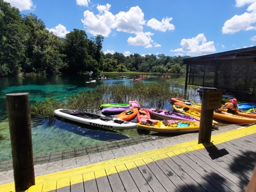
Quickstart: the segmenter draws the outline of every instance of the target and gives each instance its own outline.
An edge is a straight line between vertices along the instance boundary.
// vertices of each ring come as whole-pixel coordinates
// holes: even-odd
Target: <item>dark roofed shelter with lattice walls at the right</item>
[[[256,46],[183,59],[187,85],[249,95],[256,102]]]

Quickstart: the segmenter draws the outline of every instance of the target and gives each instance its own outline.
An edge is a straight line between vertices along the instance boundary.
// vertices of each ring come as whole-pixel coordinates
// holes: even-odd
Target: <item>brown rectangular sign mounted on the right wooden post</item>
[[[208,90],[206,96],[206,110],[221,107],[222,90]]]

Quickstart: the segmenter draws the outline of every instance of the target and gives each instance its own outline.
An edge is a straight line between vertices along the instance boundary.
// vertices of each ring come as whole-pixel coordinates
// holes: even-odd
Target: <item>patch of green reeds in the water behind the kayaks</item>
[[[189,93],[172,89],[173,82],[144,84],[134,82],[132,86],[124,84],[111,84],[97,86],[93,91],[84,91],[63,98],[46,99],[31,105],[31,114],[45,118],[53,117],[55,109],[81,109],[90,113],[99,113],[102,103],[128,103],[137,100],[141,106],[163,108],[170,98],[189,98]],[[177,87],[177,86],[175,86]]]

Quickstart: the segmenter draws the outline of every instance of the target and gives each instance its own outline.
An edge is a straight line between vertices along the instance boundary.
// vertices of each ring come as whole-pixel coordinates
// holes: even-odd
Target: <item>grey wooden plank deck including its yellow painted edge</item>
[[[256,125],[211,140],[42,175],[27,191],[245,191],[256,163]]]

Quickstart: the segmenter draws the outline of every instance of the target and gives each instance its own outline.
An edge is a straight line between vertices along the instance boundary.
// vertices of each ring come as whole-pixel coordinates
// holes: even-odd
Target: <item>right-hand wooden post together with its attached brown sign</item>
[[[211,142],[213,113],[214,109],[221,107],[221,99],[222,90],[204,87],[198,144]]]

